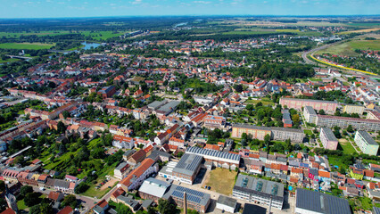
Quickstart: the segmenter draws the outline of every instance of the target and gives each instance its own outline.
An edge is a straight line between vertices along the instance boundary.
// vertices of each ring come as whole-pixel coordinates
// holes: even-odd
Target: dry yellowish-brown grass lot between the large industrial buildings
[[[210,185],[212,191],[230,195],[234,188],[236,174],[237,172],[229,169],[217,168],[211,170],[206,185]]]

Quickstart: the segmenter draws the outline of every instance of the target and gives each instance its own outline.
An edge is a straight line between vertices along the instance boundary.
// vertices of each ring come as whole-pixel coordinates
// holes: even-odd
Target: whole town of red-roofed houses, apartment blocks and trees
[[[158,34],[1,65],[1,213],[380,213],[368,35]]]

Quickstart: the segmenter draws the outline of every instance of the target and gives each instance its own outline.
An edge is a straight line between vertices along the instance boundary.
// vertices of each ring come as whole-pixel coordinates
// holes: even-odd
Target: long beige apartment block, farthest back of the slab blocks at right
[[[301,111],[302,107],[310,106],[311,108],[319,111],[324,110],[327,113],[335,113],[338,103],[335,101],[321,101],[310,99],[296,99],[296,98],[280,98],[280,104],[288,109],[296,109]]]

